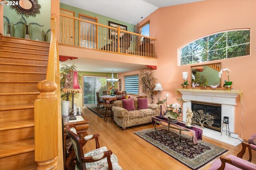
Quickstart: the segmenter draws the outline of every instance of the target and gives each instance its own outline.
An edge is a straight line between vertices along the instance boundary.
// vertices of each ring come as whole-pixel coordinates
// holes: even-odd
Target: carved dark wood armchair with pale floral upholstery
[[[76,153],[76,170],[122,170],[116,155],[105,146],[100,148],[99,134],[90,134],[80,139],[76,126],[67,126],[66,130]],[[84,154],[83,146],[91,139],[96,140],[96,149]]]

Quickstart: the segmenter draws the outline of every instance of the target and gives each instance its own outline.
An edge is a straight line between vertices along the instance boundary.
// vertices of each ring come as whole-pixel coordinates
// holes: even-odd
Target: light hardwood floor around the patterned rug
[[[118,157],[118,162],[123,170],[189,169],[133,133],[139,130],[153,128],[152,124],[139,125],[122,130],[113,120],[108,119],[106,123],[103,121],[103,118],[100,118],[86,107],[83,109],[83,113],[90,121],[88,133],[100,134],[100,147],[106,146],[109,150],[112,150]],[[238,154],[242,148],[241,145],[234,147],[208,137],[203,137],[203,140],[226,148],[233,155]],[[95,149],[95,141],[90,141],[84,146],[84,151],[93,149]],[[252,152],[252,163],[256,164],[256,152]],[[246,151],[244,159],[248,160],[248,158],[248,151]],[[204,169],[206,170],[209,167],[206,166]]]

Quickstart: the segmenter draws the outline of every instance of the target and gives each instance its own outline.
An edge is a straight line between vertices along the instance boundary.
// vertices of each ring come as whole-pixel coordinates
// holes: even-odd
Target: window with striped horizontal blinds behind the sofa
[[[124,76],[124,90],[128,94],[139,95],[139,75]]]

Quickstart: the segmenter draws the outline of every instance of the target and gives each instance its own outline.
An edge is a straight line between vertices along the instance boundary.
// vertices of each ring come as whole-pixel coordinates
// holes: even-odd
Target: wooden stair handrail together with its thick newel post
[[[59,143],[62,144],[62,140],[58,137],[58,124],[61,125],[61,121],[59,121],[60,85],[56,45],[56,18],[52,16],[46,80],[40,81],[37,85],[40,95],[37,96],[34,106],[35,160],[40,170],[57,168],[58,147]],[[58,142],[58,140],[60,141]]]

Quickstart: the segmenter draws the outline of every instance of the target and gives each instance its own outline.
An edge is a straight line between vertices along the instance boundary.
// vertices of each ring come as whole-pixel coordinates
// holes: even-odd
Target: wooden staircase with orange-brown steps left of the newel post
[[[32,170],[36,85],[46,79],[49,43],[0,36],[0,169]]]

